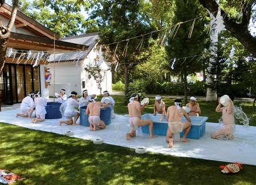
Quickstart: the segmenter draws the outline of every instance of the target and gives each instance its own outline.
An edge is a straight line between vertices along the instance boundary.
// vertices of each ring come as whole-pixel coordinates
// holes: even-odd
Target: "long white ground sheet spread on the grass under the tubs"
[[[192,157],[201,159],[210,159],[214,161],[239,162],[247,165],[256,165],[256,127],[243,127],[236,125],[235,138],[233,140],[214,140],[210,134],[218,128],[218,123],[207,123],[206,131],[199,139],[189,139],[191,142],[174,142],[173,148],[168,148],[165,136],[149,138],[149,134],[143,133],[144,136],[137,136],[127,141],[125,133],[130,132],[129,117],[116,115],[112,119],[112,124],[106,126],[106,129],[97,129],[93,132],[89,127],[81,125],[61,125],[61,119],[48,119],[36,124],[31,123],[31,119],[15,117],[20,113],[19,109],[0,112],[0,121],[36,129],[39,131],[53,132],[64,134],[72,131],[73,136],[84,140],[94,140],[101,138],[106,144],[136,148],[144,146],[147,151],[175,155],[178,157]],[[79,123],[79,120],[77,121]],[[135,150],[134,150],[135,152]]]

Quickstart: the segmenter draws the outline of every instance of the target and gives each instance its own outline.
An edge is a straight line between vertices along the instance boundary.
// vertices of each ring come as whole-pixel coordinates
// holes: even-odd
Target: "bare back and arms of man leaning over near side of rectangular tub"
[[[168,122],[174,122],[174,121],[181,121],[182,116],[185,116],[185,118],[191,122],[190,117],[188,116],[187,112],[183,108],[177,109],[176,106],[170,106],[167,109],[167,115],[166,119]]]

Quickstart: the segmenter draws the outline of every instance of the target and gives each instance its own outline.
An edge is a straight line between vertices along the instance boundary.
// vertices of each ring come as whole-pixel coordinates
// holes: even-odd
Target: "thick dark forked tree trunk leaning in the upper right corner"
[[[198,0],[201,5],[203,5],[207,10],[212,12],[212,14],[216,17],[218,12],[218,2],[216,1],[209,1],[209,0]],[[251,54],[253,54],[254,57],[256,57],[256,37],[251,35],[250,31],[248,30],[248,24],[250,20],[251,15],[251,5],[250,3],[247,3],[246,1],[245,6],[241,6],[243,8],[243,19],[242,23],[238,24],[236,23],[230,16],[228,16],[228,12],[225,12],[221,10],[221,16],[224,20],[224,25],[226,30],[230,31],[231,35],[236,37],[238,41],[249,51]]]

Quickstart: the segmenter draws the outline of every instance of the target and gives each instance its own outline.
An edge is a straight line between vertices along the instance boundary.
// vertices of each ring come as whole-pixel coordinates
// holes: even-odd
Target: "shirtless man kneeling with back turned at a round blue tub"
[[[100,119],[101,108],[108,108],[109,106],[102,102],[97,102],[97,96],[93,94],[91,96],[92,103],[89,103],[85,114],[89,115],[88,121],[90,123],[90,131],[96,131],[96,127],[100,129],[106,128],[105,123]]]

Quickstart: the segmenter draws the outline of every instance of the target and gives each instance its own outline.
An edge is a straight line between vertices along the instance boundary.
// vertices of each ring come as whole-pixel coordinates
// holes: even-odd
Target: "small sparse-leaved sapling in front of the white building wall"
[[[94,80],[97,83],[97,87],[101,93],[102,91],[101,83],[104,81],[105,72],[102,72],[100,65],[98,65],[97,62],[94,61],[94,65],[86,64],[86,67],[84,68],[84,70],[93,76]]]

